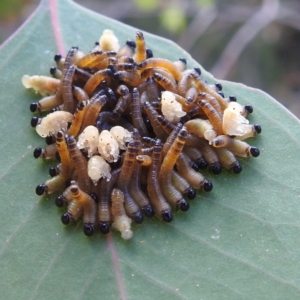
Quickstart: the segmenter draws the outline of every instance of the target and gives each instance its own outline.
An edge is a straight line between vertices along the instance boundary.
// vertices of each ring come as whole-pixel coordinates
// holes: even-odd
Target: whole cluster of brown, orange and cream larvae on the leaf
[[[196,191],[212,183],[199,169],[240,173],[238,157],[257,157],[244,140],[261,132],[246,119],[250,105],[226,98],[221,84],[208,84],[186,60],[153,57],[143,33],[122,47],[105,30],[87,54],[72,47],[54,57],[51,77],[22,78],[43,98],[30,105],[31,126],[45,138],[35,158],[58,159],[38,195],[60,192],[62,223],[82,218],[84,233],[110,228],[132,237],[132,220],[173,219],[187,211]]]

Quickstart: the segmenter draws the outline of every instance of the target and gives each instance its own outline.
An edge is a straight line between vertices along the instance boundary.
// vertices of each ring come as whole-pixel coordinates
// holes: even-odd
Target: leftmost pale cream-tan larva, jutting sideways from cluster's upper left
[[[27,89],[32,88],[37,93],[40,93],[42,96],[54,94],[57,90],[59,83],[59,79],[48,76],[24,75],[22,77],[22,84]]]

